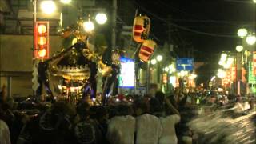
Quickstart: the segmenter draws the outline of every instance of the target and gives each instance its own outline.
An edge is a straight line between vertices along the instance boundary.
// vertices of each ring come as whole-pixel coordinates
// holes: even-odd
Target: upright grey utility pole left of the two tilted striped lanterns
[[[118,10],[118,2],[117,0],[113,0],[113,8],[112,8],[112,39],[111,45],[112,48],[115,49],[116,46],[116,20],[117,20],[117,10]]]

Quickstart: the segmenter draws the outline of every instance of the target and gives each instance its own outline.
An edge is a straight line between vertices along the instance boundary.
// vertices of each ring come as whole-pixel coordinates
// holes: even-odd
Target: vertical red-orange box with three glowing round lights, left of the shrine
[[[36,22],[34,26],[34,58],[49,58],[49,22]]]

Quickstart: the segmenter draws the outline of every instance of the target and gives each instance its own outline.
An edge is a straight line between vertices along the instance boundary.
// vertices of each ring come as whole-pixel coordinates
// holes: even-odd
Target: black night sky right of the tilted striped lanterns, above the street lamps
[[[151,18],[151,34],[158,42],[167,40],[170,15],[172,41],[202,54],[235,50],[238,28],[256,27],[252,0],[136,0],[135,6]]]

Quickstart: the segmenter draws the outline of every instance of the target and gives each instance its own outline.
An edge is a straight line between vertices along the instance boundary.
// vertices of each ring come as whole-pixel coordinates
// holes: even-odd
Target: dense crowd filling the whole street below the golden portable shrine
[[[26,102],[15,106],[3,88],[0,143],[196,143],[198,136],[186,123],[199,114],[198,106],[225,106],[226,98],[176,90],[170,95],[160,91],[153,96],[120,94],[108,98],[104,106],[100,94],[95,99],[83,98],[75,105],[34,103],[32,98],[26,98]],[[234,99],[242,101],[241,97]],[[252,102],[249,109],[254,106]]]

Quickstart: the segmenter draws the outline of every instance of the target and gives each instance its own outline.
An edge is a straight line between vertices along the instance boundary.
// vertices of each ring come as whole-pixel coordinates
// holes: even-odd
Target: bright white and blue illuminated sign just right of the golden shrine
[[[119,87],[134,88],[135,83],[135,64],[134,60],[130,58],[120,58],[121,73],[119,74]]]

